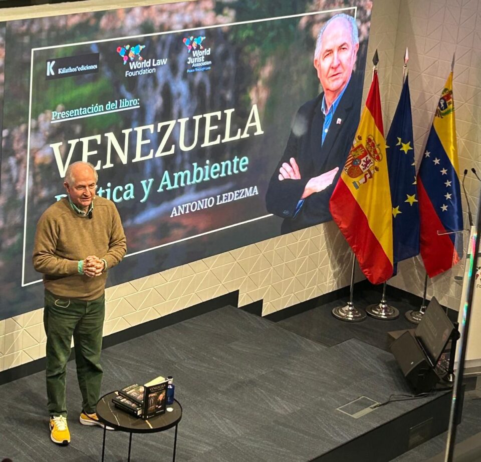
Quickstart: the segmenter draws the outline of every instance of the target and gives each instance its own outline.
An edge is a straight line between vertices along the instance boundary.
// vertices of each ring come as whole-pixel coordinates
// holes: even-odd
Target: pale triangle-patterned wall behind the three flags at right
[[[376,3],[377,6],[377,3]],[[404,51],[409,49],[409,87],[411,90],[415,156],[419,165],[434,110],[451,70],[455,53],[453,96],[456,114],[459,173],[468,170],[466,187],[472,216],[477,212],[481,183],[471,173],[481,171],[481,3],[478,0],[407,0],[400,3],[391,90],[390,115],[401,92]],[[480,175],[481,176],[481,175]],[[464,248],[468,239],[466,198],[464,210]],[[441,251],[442,249],[440,249]],[[444,305],[459,308],[460,278],[464,260],[451,270],[428,281],[427,297],[433,295]],[[390,284],[422,295],[424,267],[419,257],[401,262],[399,273]]]

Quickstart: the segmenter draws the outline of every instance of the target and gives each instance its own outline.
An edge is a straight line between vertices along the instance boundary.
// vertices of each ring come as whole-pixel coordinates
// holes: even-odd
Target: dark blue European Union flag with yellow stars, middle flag
[[[412,135],[411,98],[406,76],[386,137],[392,202],[394,273],[397,262],[419,253],[419,203]]]

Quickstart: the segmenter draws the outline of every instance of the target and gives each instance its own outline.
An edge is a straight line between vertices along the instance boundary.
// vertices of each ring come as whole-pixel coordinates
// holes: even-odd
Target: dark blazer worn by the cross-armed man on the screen
[[[324,114],[321,106],[324,93],[305,103],[296,114],[284,155],[272,175],[266,193],[266,207],[269,213],[284,218],[281,226],[283,234],[332,220],[329,199],[341,176],[359,125],[362,99],[362,86],[359,85],[359,80],[352,75],[333,115],[322,147]],[[280,181],[279,169],[284,162],[289,163],[291,157],[296,159],[301,179]],[[295,215],[309,179],[335,167],[339,167],[339,172],[333,183],[324,191],[307,197]]]

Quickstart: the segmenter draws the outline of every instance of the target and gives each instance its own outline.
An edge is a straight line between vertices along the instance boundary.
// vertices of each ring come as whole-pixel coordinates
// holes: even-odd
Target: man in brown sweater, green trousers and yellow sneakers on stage
[[[95,405],[103,373],[105,282],[107,269],[127,250],[114,203],[95,196],[97,178],[92,164],[71,164],[64,182],[67,197],[43,213],[35,235],[34,268],[43,273],[45,286],[50,437],[61,445],[70,442],[65,385],[72,335],[82,392],[80,423],[102,426]]]

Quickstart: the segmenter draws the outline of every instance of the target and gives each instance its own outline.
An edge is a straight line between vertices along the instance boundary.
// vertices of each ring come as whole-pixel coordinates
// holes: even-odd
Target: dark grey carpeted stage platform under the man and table
[[[357,339],[325,346],[230,306],[109,347],[102,355],[103,392],[173,375],[183,407],[178,462],[387,461],[444,430],[449,415],[444,391],[354,418],[338,408],[360,396],[384,402],[391,394],[410,394],[389,352]],[[102,430],[79,423],[75,363],[68,368],[71,444],[50,441],[45,378],[39,372],[0,387],[1,457],[100,460]],[[365,407],[358,404],[354,411],[343,410]],[[171,433],[134,435],[132,460],[170,460]],[[124,459],[128,435],[108,432],[106,450],[106,460]]]

